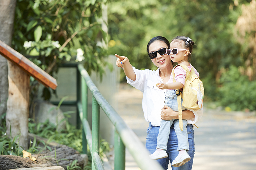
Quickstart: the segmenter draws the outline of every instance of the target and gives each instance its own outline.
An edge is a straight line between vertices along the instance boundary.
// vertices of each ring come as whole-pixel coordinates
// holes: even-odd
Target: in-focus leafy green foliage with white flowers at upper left
[[[22,54],[37,56],[33,62],[48,73],[58,63],[84,60],[89,73],[94,70],[102,76],[106,55],[97,43],[106,41],[101,29],[101,6],[106,2],[18,0],[12,46]]]

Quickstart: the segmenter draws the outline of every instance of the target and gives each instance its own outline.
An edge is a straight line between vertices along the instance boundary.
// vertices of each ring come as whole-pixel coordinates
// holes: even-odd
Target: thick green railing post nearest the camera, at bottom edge
[[[114,170],[124,170],[125,168],[125,146],[115,128],[115,160]]]

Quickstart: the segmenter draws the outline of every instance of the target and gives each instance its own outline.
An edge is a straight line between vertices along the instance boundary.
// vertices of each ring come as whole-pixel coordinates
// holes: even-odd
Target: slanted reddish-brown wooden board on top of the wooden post
[[[25,56],[15,51],[10,46],[6,45],[0,40],[0,54],[6,59],[12,61],[28,75],[34,77],[37,81],[42,83],[47,88],[56,89],[57,81],[50,74],[46,73],[43,69],[38,67],[32,61],[28,60]]]

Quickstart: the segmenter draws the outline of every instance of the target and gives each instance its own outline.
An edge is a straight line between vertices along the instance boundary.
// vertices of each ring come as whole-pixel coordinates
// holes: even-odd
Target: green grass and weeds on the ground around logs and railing
[[[0,126],[0,154],[4,155],[17,155],[22,156],[22,150],[23,148],[19,146],[18,143],[15,143],[16,139],[19,136],[16,136],[13,140],[8,138],[6,135],[6,121],[5,121],[5,114],[1,117],[2,124]],[[47,145],[47,143],[50,143],[52,141],[55,141],[61,145],[67,145],[68,147],[74,148],[78,152],[82,152],[82,129],[76,129],[75,126],[68,123],[67,117],[66,120],[66,129],[62,129],[60,131],[57,131],[57,126],[50,123],[49,120],[45,121],[44,123],[35,123],[34,120],[29,119],[28,123],[28,131],[29,133],[36,134],[42,138],[47,138],[48,141],[44,143],[44,141],[36,141],[36,138],[34,138],[33,141],[30,141],[32,145],[28,148],[27,152],[30,152],[32,154],[38,154],[42,152],[45,149],[49,149],[51,151],[51,148]],[[38,146],[39,143],[43,143],[44,147]],[[83,170],[91,170],[91,161],[92,157],[90,155],[89,148],[87,146],[88,150],[88,158],[89,162],[88,165],[84,167]],[[109,151],[109,144],[104,139],[100,140],[100,156],[102,157],[104,152]],[[58,161],[58,160],[56,160]],[[80,167],[76,166],[77,160],[71,162],[68,166],[68,170],[81,170]]]

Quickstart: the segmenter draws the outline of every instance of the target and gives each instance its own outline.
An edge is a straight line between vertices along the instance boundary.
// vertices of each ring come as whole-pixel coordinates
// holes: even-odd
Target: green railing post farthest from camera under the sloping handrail
[[[83,108],[83,119],[88,118],[88,113],[87,113],[87,107],[88,107],[88,90],[87,90],[87,84],[85,82],[84,77],[82,76],[81,80],[81,90],[82,90],[82,108]],[[87,153],[87,141],[84,133],[84,128],[82,131],[82,145],[83,145],[83,153]]]

